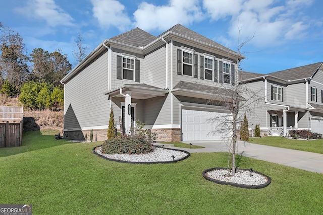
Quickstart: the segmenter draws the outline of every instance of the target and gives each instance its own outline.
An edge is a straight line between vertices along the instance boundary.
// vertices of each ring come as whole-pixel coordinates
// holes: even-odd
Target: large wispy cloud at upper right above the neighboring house
[[[298,13],[310,6],[312,0],[203,0],[203,8],[213,21],[229,20],[228,34],[237,41],[244,42],[254,34],[252,44],[267,47],[285,43],[306,36],[307,17]]]

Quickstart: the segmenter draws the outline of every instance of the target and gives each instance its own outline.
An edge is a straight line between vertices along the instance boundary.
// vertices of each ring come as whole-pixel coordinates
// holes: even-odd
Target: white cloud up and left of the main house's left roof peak
[[[91,0],[93,16],[102,28],[111,26],[125,31],[131,25],[130,18],[125,12],[125,6],[116,0]]]

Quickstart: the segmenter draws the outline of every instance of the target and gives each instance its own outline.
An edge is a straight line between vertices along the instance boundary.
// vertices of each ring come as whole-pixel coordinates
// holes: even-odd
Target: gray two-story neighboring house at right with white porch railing
[[[287,135],[290,129],[323,133],[322,62],[267,75],[239,71],[239,83],[263,97],[248,113],[252,129],[260,124],[268,135]]]

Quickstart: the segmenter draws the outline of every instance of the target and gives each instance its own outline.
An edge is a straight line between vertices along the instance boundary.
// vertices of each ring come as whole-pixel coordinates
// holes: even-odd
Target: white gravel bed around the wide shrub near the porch
[[[121,161],[129,161],[129,162],[165,162],[165,161],[173,161],[172,156],[174,156],[174,160],[180,160],[187,156],[188,154],[181,151],[175,151],[165,148],[154,148],[153,152],[147,154],[140,155],[129,155],[129,154],[103,154],[101,152],[101,147],[97,147],[95,149],[97,154],[100,154],[106,158],[121,160]]]

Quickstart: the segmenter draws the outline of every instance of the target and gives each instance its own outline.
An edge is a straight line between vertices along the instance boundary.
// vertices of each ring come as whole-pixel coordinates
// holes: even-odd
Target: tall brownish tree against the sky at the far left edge
[[[3,80],[19,88],[29,78],[25,44],[19,33],[0,25],[0,72]]]

